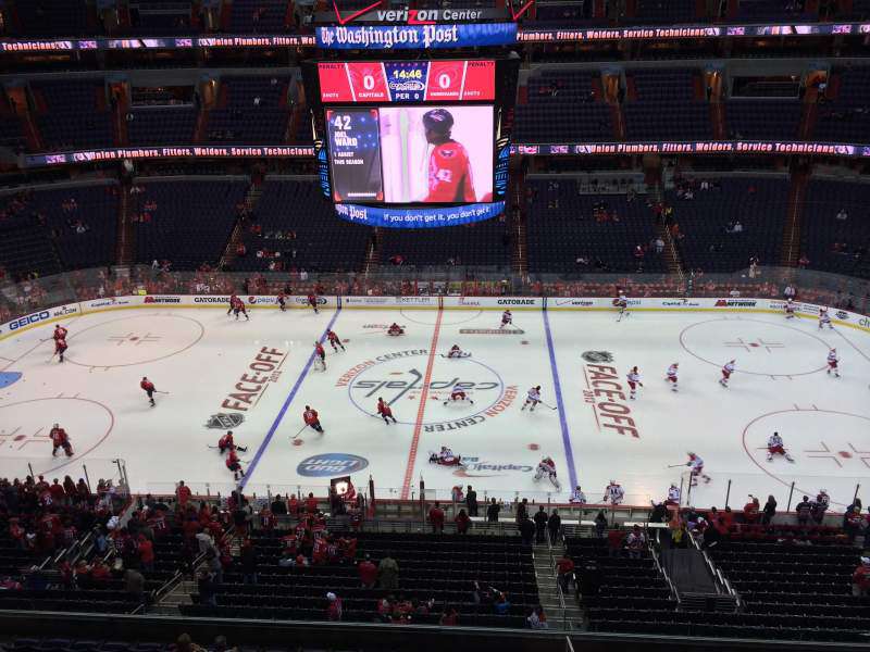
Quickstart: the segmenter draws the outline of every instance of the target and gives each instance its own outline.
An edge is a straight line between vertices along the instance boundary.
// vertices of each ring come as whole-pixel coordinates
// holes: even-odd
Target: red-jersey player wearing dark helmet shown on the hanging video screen
[[[426,142],[434,146],[428,158],[428,195],[424,201],[477,201],[469,154],[450,138],[453,116],[445,109],[433,109],[423,114],[423,127]]]

